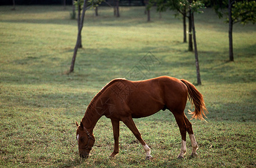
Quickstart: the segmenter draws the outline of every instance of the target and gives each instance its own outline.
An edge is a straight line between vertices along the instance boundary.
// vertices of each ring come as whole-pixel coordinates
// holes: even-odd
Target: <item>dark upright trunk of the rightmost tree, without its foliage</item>
[[[233,20],[232,20],[232,2],[228,0],[228,39],[229,39],[229,54],[230,54],[230,61],[233,61]]]

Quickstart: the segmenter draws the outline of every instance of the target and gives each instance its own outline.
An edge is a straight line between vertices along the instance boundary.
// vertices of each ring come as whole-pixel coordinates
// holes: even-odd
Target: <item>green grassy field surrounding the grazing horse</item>
[[[87,160],[78,156],[75,121],[107,82],[128,77],[168,75],[196,82],[194,53],[182,43],[182,21],[172,13],[143,7],[100,7],[88,11],[75,72],[66,74],[77,37],[77,23],[61,6],[0,6],[0,167],[255,167],[256,26],[235,25],[235,62],[228,62],[228,25],[207,9],[195,16],[201,80],[208,123],[191,120],[199,144],[197,158],[177,160],[181,136],[168,110],[134,119],[153,159],[131,131],[120,125],[120,153],[109,119],[102,117]],[[140,60],[154,55],[146,69]],[[187,104],[187,109],[190,104]],[[187,112],[186,112],[187,114]],[[188,114],[187,114],[188,115]]]

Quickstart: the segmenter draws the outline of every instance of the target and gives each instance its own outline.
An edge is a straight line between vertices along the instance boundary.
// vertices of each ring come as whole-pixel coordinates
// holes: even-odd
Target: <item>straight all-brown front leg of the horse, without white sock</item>
[[[117,155],[119,153],[119,125],[120,124],[119,124],[119,120],[114,120],[114,119],[111,119],[111,123],[113,126],[115,145],[114,145],[114,151],[110,155],[110,157],[115,157],[115,155]]]

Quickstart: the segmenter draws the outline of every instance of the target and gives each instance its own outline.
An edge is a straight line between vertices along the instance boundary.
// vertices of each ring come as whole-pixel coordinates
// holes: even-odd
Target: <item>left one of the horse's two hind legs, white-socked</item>
[[[187,152],[186,147],[186,123],[185,123],[185,114],[184,113],[173,113],[176,119],[176,122],[179,127],[179,132],[181,132],[181,152],[179,153],[178,158],[184,158],[184,155]]]

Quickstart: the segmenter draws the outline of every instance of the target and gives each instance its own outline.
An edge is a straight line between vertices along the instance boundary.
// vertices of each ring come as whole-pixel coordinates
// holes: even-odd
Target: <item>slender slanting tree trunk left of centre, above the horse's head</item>
[[[72,58],[72,61],[71,61],[71,66],[70,66],[69,73],[74,72],[75,58],[77,57],[77,50],[78,50],[78,47],[79,47],[79,38],[81,36],[81,32],[82,32],[82,29],[83,29],[83,22],[84,22],[85,13],[86,13],[86,1],[84,1],[84,4],[83,4],[82,17],[81,18],[79,17],[80,18],[80,22],[79,22],[80,24],[79,24],[78,35],[77,35],[77,43],[75,44],[73,58]]]

